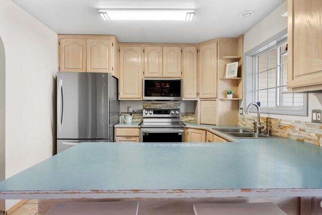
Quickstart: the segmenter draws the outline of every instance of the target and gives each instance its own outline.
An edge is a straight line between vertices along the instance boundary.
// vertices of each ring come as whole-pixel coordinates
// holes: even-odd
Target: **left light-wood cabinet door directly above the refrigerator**
[[[86,39],[59,40],[60,71],[86,71]]]

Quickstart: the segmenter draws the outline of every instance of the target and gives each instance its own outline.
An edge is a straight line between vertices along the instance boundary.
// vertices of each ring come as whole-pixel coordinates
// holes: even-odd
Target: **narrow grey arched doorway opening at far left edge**
[[[0,36],[0,181],[6,178],[6,58]],[[0,199],[0,211],[5,211],[5,200]]]

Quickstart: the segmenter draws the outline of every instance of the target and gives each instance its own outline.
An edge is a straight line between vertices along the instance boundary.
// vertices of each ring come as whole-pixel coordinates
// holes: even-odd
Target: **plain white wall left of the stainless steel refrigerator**
[[[0,0],[6,50],[6,178],[53,155],[57,34]]]

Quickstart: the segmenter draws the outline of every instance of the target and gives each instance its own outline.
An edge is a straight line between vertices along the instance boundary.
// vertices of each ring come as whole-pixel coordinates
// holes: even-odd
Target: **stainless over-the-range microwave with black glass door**
[[[181,79],[143,79],[143,100],[182,100]]]

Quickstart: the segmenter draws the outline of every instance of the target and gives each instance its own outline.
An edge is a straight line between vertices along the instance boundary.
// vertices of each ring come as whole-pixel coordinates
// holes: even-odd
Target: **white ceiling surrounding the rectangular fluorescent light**
[[[121,42],[199,43],[245,34],[285,0],[12,0],[58,34],[110,34]],[[98,9],[195,9],[192,22],[103,21]],[[241,18],[241,12],[254,15]]]

